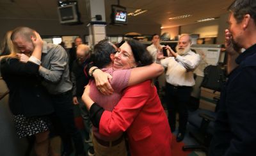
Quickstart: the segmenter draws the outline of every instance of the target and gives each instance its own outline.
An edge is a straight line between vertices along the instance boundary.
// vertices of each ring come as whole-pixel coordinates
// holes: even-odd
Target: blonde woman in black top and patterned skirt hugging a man
[[[8,31],[3,42],[0,56],[0,70],[9,93],[9,106],[13,114],[17,135],[35,136],[36,155],[48,155],[49,114],[53,113],[51,98],[40,84],[38,68],[42,54],[43,41],[35,32],[31,40],[35,46],[27,63],[22,63],[24,53],[20,54],[10,40],[12,31]],[[28,53],[26,55],[29,55]]]

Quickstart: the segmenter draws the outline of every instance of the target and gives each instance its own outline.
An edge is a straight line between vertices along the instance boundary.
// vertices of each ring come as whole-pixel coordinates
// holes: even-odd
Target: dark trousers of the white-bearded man
[[[188,107],[192,87],[173,86],[166,82],[166,100],[168,108],[168,121],[172,131],[175,130],[176,113],[179,113],[179,132],[186,132],[188,122]]]

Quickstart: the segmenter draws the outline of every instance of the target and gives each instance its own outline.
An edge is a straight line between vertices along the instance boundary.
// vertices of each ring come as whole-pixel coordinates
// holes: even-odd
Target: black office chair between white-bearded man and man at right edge
[[[214,92],[221,91],[225,81],[225,69],[223,70],[220,65],[209,65],[204,69],[204,79],[201,86],[214,90]],[[196,111],[189,113],[188,123],[197,129],[194,133],[189,132],[189,136],[193,137],[200,145],[183,146],[182,150],[202,150],[207,152],[207,147],[211,143],[220,97],[213,97],[213,100],[216,104],[215,111],[198,108]]]

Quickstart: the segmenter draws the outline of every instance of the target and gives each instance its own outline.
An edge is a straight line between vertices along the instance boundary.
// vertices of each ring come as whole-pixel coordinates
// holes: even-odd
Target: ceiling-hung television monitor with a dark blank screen
[[[77,24],[80,22],[76,4],[58,6],[58,15],[61,24]]]

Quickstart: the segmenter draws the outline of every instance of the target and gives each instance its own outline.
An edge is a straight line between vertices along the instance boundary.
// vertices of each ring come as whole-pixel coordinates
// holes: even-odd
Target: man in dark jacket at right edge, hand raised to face
[[[236,0],[228,10],[225,45],[229,75],[221,90],[209,155],[255,155],[256,1]],[[241,48],[246,51],[241,53]]]

